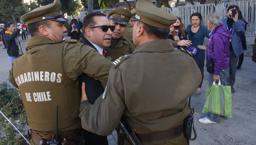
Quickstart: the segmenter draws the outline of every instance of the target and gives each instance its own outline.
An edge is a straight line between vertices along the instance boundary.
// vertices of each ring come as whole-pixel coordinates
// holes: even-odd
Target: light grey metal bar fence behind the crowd
[[[236,1],[230,0],[232,2],[228,3],[217,3],[215,4],[205,4],[205,5],[186,5],[172,8],[162,8],[166,12],[180,16],[181,21],[183,22],[185,28],[191,24],[190,15],[195,12],[199,12],[202,14],[203,20],[202,25],[206,26],[206,16],[209,13],[217,13],[221,19],[226,18],[226,10],[230,5],[238,5],[242,12],[243,18],[249,23],[247,25],[247,31],[245,32],[246,40],[248,42],[253,42],[255,38],[255,29],[256,29],[256,19],[255,19],[255,5],[256,0],[250,1]],[[104,11],[109,12],[115,8],[108,9],[95,9],[93,12],[103,13]],[[80,11],[80,16],[75,16],[75,18],[80,17],[80,21],[83,22],[83,18],[88,11]],[[71,17],[68,18],[69,22],[71,21]]]

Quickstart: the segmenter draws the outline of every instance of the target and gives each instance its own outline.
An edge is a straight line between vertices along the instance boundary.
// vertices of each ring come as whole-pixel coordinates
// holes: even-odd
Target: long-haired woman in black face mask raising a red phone
[[[184,25],[181,22],[181,18],[179,16],[176,16],[176,17],[177,17],[177,21],[171,25],[168,39],[172,39],[175,41],[187,40],[187,35],[185,34]],[[178,49],[179,47],[182,47],[182,46],[178,46]]]

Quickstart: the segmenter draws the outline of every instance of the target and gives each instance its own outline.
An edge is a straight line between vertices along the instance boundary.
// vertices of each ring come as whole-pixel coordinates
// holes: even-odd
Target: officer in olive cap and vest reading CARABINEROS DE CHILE
[[[9,81],[20,90],[32,129],[32,145],[46,144],[56,135],[56,105],[60,141],[74,136],[81,126],[78,76],[84,72],[106,86],[111,67],[95,49],[63,40],[63,23],[68,20],[60,10],[61,3],[55,0],[21,17],[32,37],[10,70]]]

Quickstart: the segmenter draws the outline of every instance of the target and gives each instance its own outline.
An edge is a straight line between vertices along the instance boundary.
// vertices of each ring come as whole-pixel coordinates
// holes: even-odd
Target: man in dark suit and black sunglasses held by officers
[[[102,13],[90,13],[84,20],[84,36],[79,42],[88,45],[98,51],[102,57],[105,56],[105,47],[110,46],[112,30],[115,26],[110,26],[108,18]],[[96,80],[87,74],[83,73],[79,76],[79,85],[84,82],[86,85],[85,91],[90,103],[104,92],[104,88],[99,80]],[[85,144],[108,144],[107,136],[100,136],[92,132],[84,130]]]

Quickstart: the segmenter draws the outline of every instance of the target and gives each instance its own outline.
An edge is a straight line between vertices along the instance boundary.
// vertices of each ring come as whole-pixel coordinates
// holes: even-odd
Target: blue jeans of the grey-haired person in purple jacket
[[[213,75],[212,73],[209,73],[209,87],[213,83]],[[227,86],[227,79],[229,76],[229,70],[225,69],[220,71],[220,83],[223,86]],[[216,81],[216,84],[218,84],[219,81]],[[224,116],[226,118],[226,116]],[[206,118],[208,118],[210,121],[218,122],[218,115],[213,113],[207,113]]]

